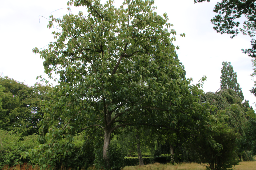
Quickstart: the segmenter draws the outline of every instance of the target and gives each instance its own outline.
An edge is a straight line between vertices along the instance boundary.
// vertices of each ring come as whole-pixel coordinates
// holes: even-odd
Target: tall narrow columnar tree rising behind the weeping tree
[[[233,66],[231,66],[230,62],[227,63],[223,61],[221,69],[221,87],[231,88],[243,100],[242,88],[239,86],[239,83],[237,83],[237,73],[234,72]]]

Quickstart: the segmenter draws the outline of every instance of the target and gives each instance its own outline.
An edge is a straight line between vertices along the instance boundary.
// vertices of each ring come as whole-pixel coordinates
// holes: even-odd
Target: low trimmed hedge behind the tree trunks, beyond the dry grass
[[[142,157],[144,165],[154,163],[154,162],[159,162],[159,163],[169,163],[170,160],[167,160],[166,156],[163,157]],[[125,158],[125,166],[137,166],[139,165],[139,159],[138,157],[126,157]]]

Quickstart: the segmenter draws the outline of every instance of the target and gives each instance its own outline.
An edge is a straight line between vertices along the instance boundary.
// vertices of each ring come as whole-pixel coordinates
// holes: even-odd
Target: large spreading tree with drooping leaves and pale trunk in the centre
[[[53,32],[48,49],[33,49],[45,60],[49,78],[59,76],[48,93],[52,100],[43,101],[43,144],[22,154],[42,168],[71,153],[77,129],[104,136],[105,168],[111,169],[108,151],[118,128],[150,126],[207,138],[213,124],[225,118],[221,112],[211,115],[208,102],[199,103],[200,84],[182,78],[178,47],[172,44],[176,32],[166,13],[153,12],[154,1],[125,0],[118,9],[112,3],[68,2],[84,6],[87,13],[70,12],[61,19],[51,15],[48,27],[57,24],[61,31]]]

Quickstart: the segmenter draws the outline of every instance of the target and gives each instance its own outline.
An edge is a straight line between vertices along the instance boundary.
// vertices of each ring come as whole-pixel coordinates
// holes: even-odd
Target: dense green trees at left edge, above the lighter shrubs
[[[0,128],[23,136],[38,133],[38,122],[43,118],[40,101],[48,99],[50,87],[29,87],[9,77],[0,77],[0,86]]]

